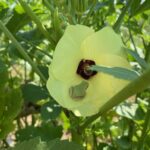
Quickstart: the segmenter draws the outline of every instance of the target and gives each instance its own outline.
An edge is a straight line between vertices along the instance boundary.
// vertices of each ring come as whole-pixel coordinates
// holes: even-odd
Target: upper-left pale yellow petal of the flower
[[[73,80],[83,53],[81,43],[94,31],[83,25],[69,25],[58,42],[50,69],[56,78],[62,81]]]

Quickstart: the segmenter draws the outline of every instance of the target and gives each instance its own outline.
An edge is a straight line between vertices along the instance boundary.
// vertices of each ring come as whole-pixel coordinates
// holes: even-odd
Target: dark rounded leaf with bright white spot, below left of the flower
[[[41,107],[41,117],[45,121],[56,119],[60,113],[61,107],[53,101],[47,102]]]

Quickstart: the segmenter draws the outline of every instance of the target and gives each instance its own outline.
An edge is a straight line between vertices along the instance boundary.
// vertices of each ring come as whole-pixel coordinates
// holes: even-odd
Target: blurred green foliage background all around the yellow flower
[[[0,149],[150,149],[150,88],[81,131],[86,118],[59,106],[45,86],[55,46],[68,24],[95,31],[117,28],[133,50],[128,54],[133,68],[144,72],[150,63],[149,0],[1,0],[0,20],[44,76],[0,30]]]

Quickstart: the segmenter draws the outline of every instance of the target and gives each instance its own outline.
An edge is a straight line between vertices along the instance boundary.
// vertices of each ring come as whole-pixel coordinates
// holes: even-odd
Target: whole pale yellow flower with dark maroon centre
[[[51,96],[77,116],[96,114],[129,81],[91,72],[88,67],[96,64],[130,69],[122,47],[120,36],[111,27],[94,32],[87,26],[69,25],[49,67],[47,88]],[[74,97],[73,88],[84,89],[81,96]]]

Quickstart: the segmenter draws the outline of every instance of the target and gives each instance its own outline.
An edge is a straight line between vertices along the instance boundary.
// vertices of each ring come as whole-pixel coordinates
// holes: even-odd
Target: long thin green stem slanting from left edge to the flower
[[[12,43],[16,46],[18,52],[22,55],[22,57],[29,62],[32,66],[33,70],[41,77],[41,79],[46,82],[45,77],[40,72],[36,64],[32,61],[32,59],[25,52],[24,48],[20,45],[20,43],[16,40],[16,38],[10,33],[10,31],[5,27],[5,25],[0,20],[0,29],[6,34],[6,36],[12,41]]]

